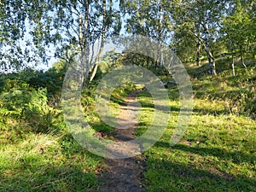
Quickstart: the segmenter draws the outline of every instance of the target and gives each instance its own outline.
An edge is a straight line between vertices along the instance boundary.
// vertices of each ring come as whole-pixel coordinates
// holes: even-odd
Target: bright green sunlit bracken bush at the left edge
[[[9,121],[22,124],[22,129],[29,127],[31,131],[47,132],[55,128],[60,121],[60,110],[47,104],[47,89],[32,88],[25,82],[7,80],[1,94],[0,123],[5,129],[17,128]]]

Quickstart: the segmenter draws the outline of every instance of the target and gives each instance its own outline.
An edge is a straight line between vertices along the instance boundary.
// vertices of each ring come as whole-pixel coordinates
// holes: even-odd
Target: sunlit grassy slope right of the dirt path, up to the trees
[[[144,154],[148,159],[144,174],[147,191],[255,191],[256,122],[240,109],[245,102],[255,107],[256,70],[240,69],[238,73],[240,76],[235,78],[227,71],[215,78],[192,79],[193,117],[183,139],[172,147],[169,140],[179,102],[177,89],[169,90],[169,126],[160,141]],[[154,113],[154,106],[146,104],[152,102],[151,96],[143,93],[139,98],[146,108],[138,135],[145,131]]]

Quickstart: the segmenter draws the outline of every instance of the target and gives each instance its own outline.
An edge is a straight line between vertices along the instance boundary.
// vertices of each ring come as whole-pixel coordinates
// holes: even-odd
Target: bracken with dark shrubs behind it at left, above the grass
[[[56,67],[47,72],[26,69],[0,78],[2,129],[48,132],[65,127],[59,106],[66,69]]]

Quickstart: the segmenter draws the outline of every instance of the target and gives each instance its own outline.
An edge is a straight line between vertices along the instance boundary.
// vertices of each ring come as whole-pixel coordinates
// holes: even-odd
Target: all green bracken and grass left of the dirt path
[[[98,185],[102,159],[74,141],[60,108],[49,102],[58,93],[54,87],[47,93],[46,85],[61,84],[59,73],[26,70],[0,78],[1,191],[84,191]]]

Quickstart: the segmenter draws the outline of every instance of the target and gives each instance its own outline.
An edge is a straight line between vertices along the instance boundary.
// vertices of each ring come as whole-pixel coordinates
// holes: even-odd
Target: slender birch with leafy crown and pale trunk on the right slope
[[[209,72],[216,74],[215,60],[212,52],[212,44],[218,38],[217,23],[224,15],[226,1],[199,0],[199,1],[172,1],[172,18],[178,26],[189,23],[188,33],[197,40],[197,55],[200,55],[201,47],[205,49]],[[198,59],[197,59],[198,61]]]

